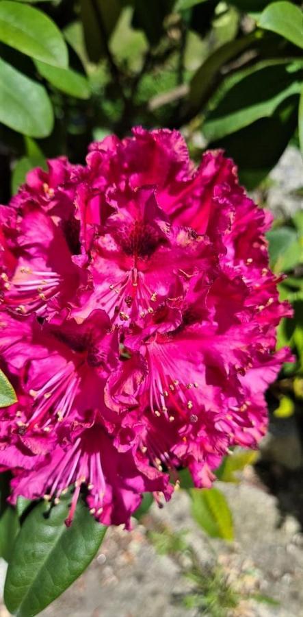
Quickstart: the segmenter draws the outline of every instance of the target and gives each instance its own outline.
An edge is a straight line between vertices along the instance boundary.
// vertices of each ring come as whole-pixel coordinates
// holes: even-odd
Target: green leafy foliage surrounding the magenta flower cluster
[[[249,190],[261,187],[261,195],[287,145],[303,151],[300,1],[0,0],[0,47],[3,203],[46,158],[66,154],[83,162],[90,141],[111,132],[123,136],[135,124],[181,128],[197,161],[206,147],[224,148],[237,162],[241,182]],[[268,239],[272,268],[288,275],[280,283],[281,297],[294,309],[293,318],[280,325],[278,346],[288,344],[296,355],[268,392],[269,409],[276,418],[300,418],[303,212],[277,220]],[[14,402],[1,373],[0,386],[1,405]],[[255,458],[254,452],[235,450],[218,478],[237,481],[237,472]],[[186,470],[180,479],[202,529],[232,540],[233,518],[220,490],[194,489]],[[70,495],[53,509],[24,499],[12,509],[8,481],[2,474],[5,603],[27,617],[79,576],[105,528],[80,502],[66,529]],[[136,518],[151,503],[145,496]],[[205,589],[205,581],[197,581]]]

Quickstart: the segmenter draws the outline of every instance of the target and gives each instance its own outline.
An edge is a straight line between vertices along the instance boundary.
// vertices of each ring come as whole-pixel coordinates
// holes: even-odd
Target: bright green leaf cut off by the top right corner
[[[303,13],[291,2],[274,2],[261,13],[258,25],[303,48]]]

